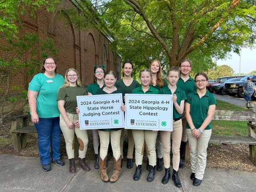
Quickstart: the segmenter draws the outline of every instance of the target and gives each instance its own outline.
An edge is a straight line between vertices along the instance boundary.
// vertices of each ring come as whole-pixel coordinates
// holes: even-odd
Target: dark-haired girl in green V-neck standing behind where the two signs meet
[[[126,93],[131,93],[132,90],[140,86],[139,82],[131,77],[133,68],[134,67],[131,61],[125,61],[122,64],[123,78],[116,81],[115,86],[116,88],[122,89],[123,95],[125,95]],[[123,101],[125,101],[125,99]],[[131,169],[133,167],[132,159],[133,159],[133,151],[134,151],[134,138],[133,138],[131,129],[128,129],[127,132],[128,132],[127,168]],[[120,150],[121,150],[122,158],[123,158],[124,133],[125,133],[125,129],[123,128],[121,133],[121,139],[120,139]]]

